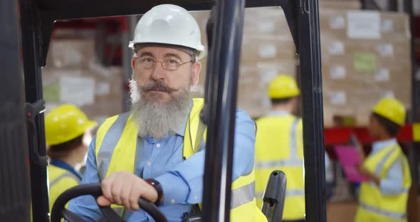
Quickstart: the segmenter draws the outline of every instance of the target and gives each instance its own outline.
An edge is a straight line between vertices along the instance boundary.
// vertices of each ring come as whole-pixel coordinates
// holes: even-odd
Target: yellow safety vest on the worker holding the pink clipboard
[[[387,177],[387,171],[396,161],[401,162],[404,169],[402,181],[403,190],[400,194],[384,195],[381,194],[379,186],[372,181],[363,182],[360,186],[359,206],[355,216],[355,222],[364,221],[383,221],[383,222],[403,222],[407,221],[406,207],[409,199],[409,189],[411,186],[411,174],[409,163],[407,162],[401,147],[392,144],[382,149],[377,154],[367,157],[363,166],[379,176],[381,179]]]

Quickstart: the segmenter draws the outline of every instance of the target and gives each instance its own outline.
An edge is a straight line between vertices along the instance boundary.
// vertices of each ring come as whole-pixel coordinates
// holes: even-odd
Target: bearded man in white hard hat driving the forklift
[[[82,196],[69,210],[88,221],[110,203],[127,221],[152,221],[137,203],[156,203],[169,221],[201,202],[204,139],[199,112],[204,101],[191,98],[199,80],[204,46],[195,19],[170,4],[155,6],[140,18],[130,48],[130,112],[107,119],[90,144],[82,183],[101,183],[96,201]],[[253,189],[255,125],[236,112],[231,221],[256,221]]]

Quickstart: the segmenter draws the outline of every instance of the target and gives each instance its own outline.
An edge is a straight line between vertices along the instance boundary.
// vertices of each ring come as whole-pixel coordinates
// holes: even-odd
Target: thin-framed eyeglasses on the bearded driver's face
[[[174,58],[166,58],[164,60],[156,60],[153,57],[149,56],[143,56],[140,58],[133,57],[133,60],[135,60],[135,68],[141,68],[141,69],[152,69],[156,67],[156,63],[159,62],[162,64],[162,68],[169,71],[176,71],[179,69],[179,66],[187,64],[187,63],[193,63],[192,60],[189,60],[188,62],[182,63],[180,60],[174,59]]]

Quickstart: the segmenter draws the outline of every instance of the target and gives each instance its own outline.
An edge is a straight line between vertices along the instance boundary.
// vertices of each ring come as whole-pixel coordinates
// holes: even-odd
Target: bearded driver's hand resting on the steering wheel
[[[103,196],[98,197],[98,205],[109,206],[111,203],[125,206],[128,210],[139,209],[142,197],[152,203],[157,201],[157,191],[140,177],[128,171],[115,171],[100,184]]]

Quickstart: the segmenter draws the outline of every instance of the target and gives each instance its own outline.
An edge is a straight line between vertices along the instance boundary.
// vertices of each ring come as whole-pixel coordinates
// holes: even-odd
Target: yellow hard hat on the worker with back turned
[[[271,99],[284,99],[300,94],[296,81],[288,75],[278,75],[268,85],[268,96]]]

